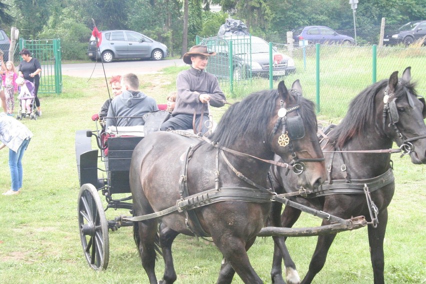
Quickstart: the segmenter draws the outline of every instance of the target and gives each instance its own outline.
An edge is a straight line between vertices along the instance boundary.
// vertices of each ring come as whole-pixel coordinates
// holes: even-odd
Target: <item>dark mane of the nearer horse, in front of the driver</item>
[[[296,94],[289,90],[294,102]],[[253,92],[240,102],[233,103],[223,114],[216,129],[209,138],[217,141],[221,146],[230,147],[238,137],[250,137],[261,135],[263,141],[269,138],[267,125],[272,119],[275,103],[278,99],[278,90],[261,90]],[[306,131],[316,133],[316,116],[314,103],[300,96],[300,115],[303,119]]]

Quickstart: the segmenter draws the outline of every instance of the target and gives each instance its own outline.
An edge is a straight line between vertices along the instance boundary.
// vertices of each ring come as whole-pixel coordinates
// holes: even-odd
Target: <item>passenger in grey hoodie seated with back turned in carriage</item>
[[[139,79],[133,73],[127,73],[121,77],[123,92],[111,101],[106,118],[106,129],[109,126],[134,126],[143,125],[142,115],[153,110],[158,110],[152,97],[137,90]],[[125,116],[118,118],[119,116]],[[130,116],[136,116],[129,118]],[[114,118],[112,118],[114,117]]]

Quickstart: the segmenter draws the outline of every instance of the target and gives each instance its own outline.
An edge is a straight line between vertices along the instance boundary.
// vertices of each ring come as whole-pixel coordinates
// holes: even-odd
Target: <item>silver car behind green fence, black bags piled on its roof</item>
[[[200,44],[207,45],[216,55],[208,59],[206,71],[217,78],[229,78],[229,42],[232,42],[232,69],[235,80],[252,76],[269,77],[269,44],[257,36],[230,35],[203,39]],[[272,48],[272,75],[274,77],[294,73],[294,60]]]

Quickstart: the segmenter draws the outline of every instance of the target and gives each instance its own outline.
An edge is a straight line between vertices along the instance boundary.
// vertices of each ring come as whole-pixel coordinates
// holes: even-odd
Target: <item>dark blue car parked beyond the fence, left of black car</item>
[[[309,25],[291,30],[293,32],[294,45],[299,40],[307,40],[308,44],[353,44],[355,40],[348,35],[339,34],[327,26]]]

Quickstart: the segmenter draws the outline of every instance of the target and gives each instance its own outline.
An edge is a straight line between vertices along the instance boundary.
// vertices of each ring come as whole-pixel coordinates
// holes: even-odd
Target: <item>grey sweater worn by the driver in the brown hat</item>
[[[171,113],[173,116],[176,114],[193,115],[195,110],[196,114],[201,114],[202,108],[204,108],[204,113],[208,114],[207,103],[199,101],[201,93],[207,93],[212,98],[220,99],[210,99],[210,105],[214,107],[223,106],[223,101],[226,100],[215,76],[192,67],[179,72],[176,78],[176,87],[176,104]]]

